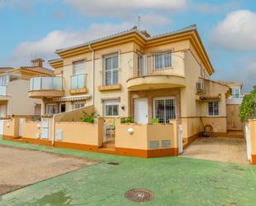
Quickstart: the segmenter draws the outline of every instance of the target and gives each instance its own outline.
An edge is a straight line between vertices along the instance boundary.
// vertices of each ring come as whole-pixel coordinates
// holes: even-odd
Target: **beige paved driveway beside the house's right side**
[[[249,164],[246,156],[246,142],[243,138],[198,138],[184,150],[181,156]]]

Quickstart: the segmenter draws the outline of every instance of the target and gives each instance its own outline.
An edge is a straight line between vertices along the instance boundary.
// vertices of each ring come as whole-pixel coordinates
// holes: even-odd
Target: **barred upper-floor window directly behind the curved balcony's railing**
[[[154,69],[167,69],[171,67],[171,51],[154,54]]]

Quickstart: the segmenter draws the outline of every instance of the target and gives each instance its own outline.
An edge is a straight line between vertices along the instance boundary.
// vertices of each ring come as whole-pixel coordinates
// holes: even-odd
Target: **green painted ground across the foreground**
[[[1,206],[256,205],[256,166],[184,157],[110,156],[2,140],[0,144],[101,160],[97,165],[2,195]],[[107,165],[109,161],[120,165]],[[152,190],[154,199],[141,204],[125,199],[124,193],[133,188]]]

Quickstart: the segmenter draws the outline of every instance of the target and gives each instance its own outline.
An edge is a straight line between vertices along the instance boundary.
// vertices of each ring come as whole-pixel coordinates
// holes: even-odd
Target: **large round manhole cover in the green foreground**
[[[133,202],[147,202],[154,198],[152,191],[147,189],[131,189],[124,195]]]

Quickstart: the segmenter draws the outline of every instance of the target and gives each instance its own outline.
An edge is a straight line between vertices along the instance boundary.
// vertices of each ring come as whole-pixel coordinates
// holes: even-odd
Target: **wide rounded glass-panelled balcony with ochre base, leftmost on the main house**
[[[30,79],[30,98],[54,98],[64,96],[61,77],[34,77]]]

